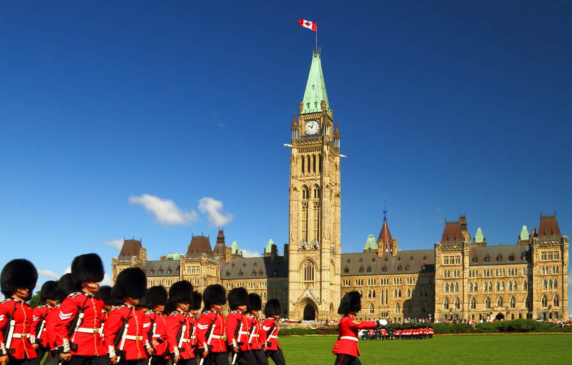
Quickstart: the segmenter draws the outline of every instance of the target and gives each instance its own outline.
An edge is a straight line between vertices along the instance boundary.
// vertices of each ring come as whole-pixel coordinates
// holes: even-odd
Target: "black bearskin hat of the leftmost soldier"
[[[5,297],[10,297],[19,288],[30,290],[30,297],[38,281],[38,271],[26,259],[15,259],[6,264],[0,275],[0,288]]]

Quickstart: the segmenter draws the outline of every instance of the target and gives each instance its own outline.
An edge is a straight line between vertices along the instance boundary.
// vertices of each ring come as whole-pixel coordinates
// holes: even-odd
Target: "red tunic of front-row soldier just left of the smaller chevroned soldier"
[[[166,321],[166,335],[169,354],[176,358],[180,356],[182,359],[193,359],[195,354],[190,346],[190,334],[194,324],[194,319],[189,314],[176,310],[173,311]],[[185,326],[184,331],[181,326]],[[178,334],[181,330],[181,336]],[[179,344],[181,346],[179,347]]]

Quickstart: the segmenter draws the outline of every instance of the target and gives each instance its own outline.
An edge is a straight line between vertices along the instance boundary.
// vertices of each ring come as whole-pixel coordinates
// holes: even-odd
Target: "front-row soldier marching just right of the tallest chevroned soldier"
[[[144,336],[145,314],[137,308],[146,288],[147,277],[140,268],[127,268],[117,275],[112,297],[124,304],[113,308],[105,323],[105,344],[112,364],[134,365],[153,354]]]

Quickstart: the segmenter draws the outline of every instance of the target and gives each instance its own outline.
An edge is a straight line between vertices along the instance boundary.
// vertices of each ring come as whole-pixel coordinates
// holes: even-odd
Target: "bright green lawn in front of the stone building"
[[[335,336],[280,338],[288,365],[333,364]],[[444,335],[426,340],[361,341],[368,364],[570,364],[572,334]],[[273,364],[272,360],[270,363]]]

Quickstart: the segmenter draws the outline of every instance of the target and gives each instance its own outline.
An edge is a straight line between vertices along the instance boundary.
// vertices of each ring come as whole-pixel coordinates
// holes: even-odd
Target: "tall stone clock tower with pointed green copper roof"
[[[336,318],[340,303],[340,134],[325,90],[320,51],[292,120],[288,316]]]

